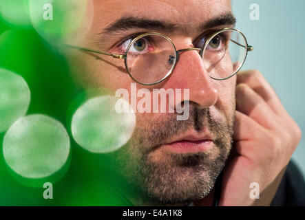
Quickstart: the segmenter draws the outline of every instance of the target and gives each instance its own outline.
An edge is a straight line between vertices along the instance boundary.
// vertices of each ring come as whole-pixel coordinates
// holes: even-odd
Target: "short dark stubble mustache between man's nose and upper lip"
[[[176,135],[182,135],[193,129],[200,133],[208,129],[215,135],[215,144],[223,137],[233,134],[233,123],[213,118],[209,108],[199,108],[190,104],[189,118],[187,120],[176,120],[175,114],[163,114],[160,120],[149,123],[145,128],[136,129],[136,138],[145,153],[154,151]]]

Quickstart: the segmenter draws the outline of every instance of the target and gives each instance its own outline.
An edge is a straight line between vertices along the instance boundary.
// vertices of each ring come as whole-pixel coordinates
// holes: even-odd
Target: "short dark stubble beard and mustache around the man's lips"
[[[134,203],[185,206],[209,195],[224,168],[231,151],[234,114],[225,122],[212,118],[209,109],[191,109],[187,121],[172,116],[137,127],[133,138],[116,152],[117,168],[138,189],[140,196],[132,199]],[[204,126],[215,135],[210,151],[178,154],[159,150],[156,154],[169,137],[189,129],[200,132]]]

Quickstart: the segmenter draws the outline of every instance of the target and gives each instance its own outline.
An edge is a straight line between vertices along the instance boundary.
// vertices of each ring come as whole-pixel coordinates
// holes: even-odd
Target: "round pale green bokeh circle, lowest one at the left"
[[[49,177],[65,165],[69,155],[67,131],[46,115],[19,118],[3,138],[6,164],[24,178]]]

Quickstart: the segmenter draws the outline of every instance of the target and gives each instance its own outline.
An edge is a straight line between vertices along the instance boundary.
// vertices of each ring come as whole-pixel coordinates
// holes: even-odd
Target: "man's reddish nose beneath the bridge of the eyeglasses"
[[[182,102],[196,103],[198,107],[213,106],[218,100],[218,91],[213,80],[202,62],[200,50],[179,50],[179,58],[173,73],[168,78],[166,87],[172,89],[189,89],[189,98],[183,97]],[[176,105],[180,104],[176,102]]]

